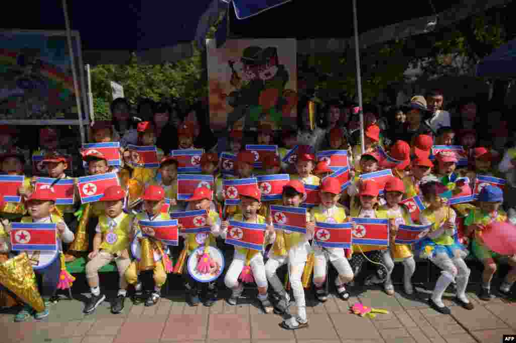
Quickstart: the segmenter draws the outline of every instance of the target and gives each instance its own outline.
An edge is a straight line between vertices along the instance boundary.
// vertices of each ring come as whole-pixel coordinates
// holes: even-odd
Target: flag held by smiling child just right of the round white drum
[[[230,220],[225,242],[235,247],[263,251],[267,224]]]

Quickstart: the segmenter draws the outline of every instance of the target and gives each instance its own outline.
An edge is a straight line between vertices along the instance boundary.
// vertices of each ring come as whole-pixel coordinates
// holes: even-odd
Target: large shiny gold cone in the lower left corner
[[[36,283],[36,274],[27,253],[21,253],[0,264],[0,283],[36,310],[45,309]]]

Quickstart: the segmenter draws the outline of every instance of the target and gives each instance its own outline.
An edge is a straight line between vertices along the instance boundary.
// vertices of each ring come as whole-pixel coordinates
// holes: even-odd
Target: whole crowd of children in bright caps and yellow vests
[[[10,130],[3,130],[2,135],[8,136]],[[138,144],[147,146],[156,142],[155,127],[151,122],[141,122],[137,127]],[[257,144],[270,144],[273,130],[266,124],[259,127]],[[491,297],[490,283],[498,263],[508,263],[511,267],[504,279],[500,292],[508,295],[516,281],[516,256],[501,256],[483,244],[482,230],[492,221],[507,221],[507,215],[501,210],[503,192],[495,186],[483,187],[478,195],[478,201],[467,206],[449,205],[445,194],[450,189],[454,194],[464,191],[471,194],[475,188],[477,175],[498,176],[492,165],[493,153],[484,147],[476,147],[475,134],[468,130],[458,133],[460,143],[467,158],[467,166],[457,166],[459,157],[453,151],[442,151],[432,157],[432,145],[452,145],[455,132],[449,127],[439,130],[436,137],[418,135],[411,142],[395,141],[388,149],[383,146],[380,128],[369,124],[365,128],[364,152],[360,145],[350,146],[349,137],[341,128],[334,127],[329,132],[328,150],[343,150],[347,154],[350,166],[350,185],[342,189],[342,183],[336,177],[331,177],[334,170],[325,161],[318,161],[316,152],[309,145],[296,145],[296,135],[293,131],[283,133],[284,146],[277,151],[277,156],[269,156],[264,161],[261,170],[256,170],[255,155],[244,149],[243,133],[236,129],[229,135],[229,153],[235,154],[234,176],[231,178],[248,178],[260,174],[290,174],[290,181],[283,187],[281,200],[272,204],[289,207],[300,207],[307,197],[307,186],[318,186],[320,203],[307,211],[306,233],[275,229],[272,224],[269,205],[262,202],[262,192],[257,186],[246,186],[239,189],[238,205],[224,206],[224,191],[222,182],[228,176],[222,176],[221,160],[217,153],[204,153],[200,159],[203,174],[214,176],[213,189],[202,186],[195,190],[188,201],[179,201],[178,195],[178,159],[172,155],[162,156],[159,167],[145,169],[131,164],[131,154],[122,150],[122,166],[109,166],[107,158],[98,151],[84,150],[82,158],[87,164],[86,170],[90,175],[116,172],[120,186],[112,186],[105,190],[103,197],[89,205],[82,205],[79,218],[74,211],[80,204],[78,189],[75,190],[73,205],[56,205],[56,196],[51,189],[34,190],[34,179],[25,177],[23,186],[18,190],[22,197],[20,203],[3,202],[0,208],[2,226],[0,227],[0,243],[4,257],[11,257],[10,240],[8,239],[11,223],[13,222],[51,222],[57,223],[59,250],[67,252],[67,262],[79,256],[87,256],[86,280],[91,289],[91,297],[84,308],[84,313],[92,313],[105,295],[100,288],[99,269],[108,263],[115,262],[119,275],[119,290],[116,299],[111,303],[112,313],[120,313],[124,308],[128,285],[135,289],[135,302],[144,302],[146,306],[155,305],[161,297],[161,289],[171,271],[171,255],[176,252],[165,243],[153,239],[147,227],[140,228],[140,221],[165,221],[171,219],[171,213],[184,210],[207,211],[209,232],[203,234],[181,233],[186,256],[192,254],[201,246],[220,247],[228,233],[229,221],[241,221],[253,224],[266,224],[265,244],[270,244],[267,254],[249,248],[225,248],[228,268],[223,276],[223,282],[230,290],[228,303],[236,305],[244,290],[241,273],[244,270],[252,272],[256,283],[258,296],[264,312],[274,311],[283,314],[291,301],[286,285],[280,280],[277,270],[287,265],[289,287],[292,288],[297,313],[283,321],[285,329],[295,330],[308,325],[305,309],[305,287],[302,275],[313,258],[313,290],[316,298],[324,302],[328,298],[328,266],[332,265],[337,271],[335,289],[339,298],[349,298],[348,289],[354,283],[357,275],[370,262],[374,265],[375,273],[368,275],[365,285],[382,285],[384,291],[393,295],[395,290],[391,279],[396,263],[404,266],[403,285],[407,295],[414,292],[412,276],[416,269],[415,258],[428,258],[441,269],[441,275],[430,297],[429,305],[441,313],[450,310],[442,301],[444,290],[450,283],[457,286],[457,302],[466,309],[472,309],[473,303],[467,299],[465,290],[469,281],[470,269],[464,263],[464,257],[473,252],[484,266],[482,286],[479,296],[483,300]],[[48,135],[47,135],[48,136]],[[46,136],[45,136],[46,137]],[[110,142],[113,137],[109,123],[96,122],[91,127],[91,137],[94,142]],[[195,149],[192,146],[193,130],[188,124],[178,128],[180,149]],[[8,142],[5,144],[8,146]],[[385,151],[384,151],[385,150]],[[65,174],[68,168],[67,157],[59,151],[42,150],[43,164],[46,176],[52,178],[69,178]],[[387,153],[395,162],[385,161],[381,154]],[[289,154],[297,158],[288,159]],[[9,147],[0,155],[0,167],[4,174],[26,175],[24,166],[26,158],[22,152]],[[433,160],[433,161],[432,161]],[[397,162],[396,162],[397,161]],[[513,159],[512,159],[513,161]],[[504,164],[502,171],[514,168],[514,163]],[[362,180],[360,175],[391,169],[392,177],[384,184],[373,180]],[[466,177],[470,183],[460,182]],[[465,180],[465,179],[464,179]],[[452,185],[456,187],[454,190]],[[468,193],[469,192],[469,193]],[[419,196],[425,209],[419,218],[411,217],[411,210],[401,204],[402,200]],[[168,213],[162,213],[165,199],[170,199]],[[462,204],[463,205],[463,204]],[[86,225],[80,225],[86,216]],[[471,246],[465,246],[459,241],[457,216],[464,219],[465,237],[472,237]],[[313,244],[316,222],[344,223],[350,218],[388,219],[390,227],[389,247],[375,245],[353,244],[350,249],[327,248]],[[400,225],[431,224],[426,236],[415,245],[398,244],[395,237]],[[87,239],[89,237],[89,239]],[[141,247],[148,247],[152,255],[150,262],[142,256],[137,256],[131,249],[136,241]],[[62,242],[62,243],[61,243]],[[227,246],[229,247],[229,246]],[[143,250],[143,248],[142,248]],[[310,256],[313,254],[313,256]],[[6,257],[6,258],[7,258]],[[5,258],[3,259],[5,260]],[[56,290],[57,277],[61,269],[60,259],[44,269],[42,274],[42,296],[45,299],[43,312],[34,313],[37,319],[44,318],[49,313],[48,299]],[[247,268],[247,269],[246,269]],[[154,285],[147,296],[143,296],[142,271],[151,270]],[[37,272],[38,274],[38,272]],[[193,279],[187,271],[182,270],[184,286],[187,290],[188,302],[195,306],[202,301],[211,306],[217,300],[216,282],[201,283]],[[269,296],[271,285],[278,298]],[[146,287],[149,288],[149,287]],[[3,290],[4,292],[6,290]],[[24,321],[33,313],[30,306],[25,305],[15,317],[16,321]]]

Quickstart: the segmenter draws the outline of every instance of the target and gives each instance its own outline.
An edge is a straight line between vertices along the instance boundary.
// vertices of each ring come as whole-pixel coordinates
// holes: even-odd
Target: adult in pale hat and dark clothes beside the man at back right
[[[419,135],[434,136],[432,129],[423,120],[429,111],[426,100],[423,95],[415,95],[410,99],[410,102],[403,106],[407,116],[407,121],[403,127],[403,132],[398,136],[398,139],[411,143],[412,138]],[[412,145],[412,144],[410,144]]]

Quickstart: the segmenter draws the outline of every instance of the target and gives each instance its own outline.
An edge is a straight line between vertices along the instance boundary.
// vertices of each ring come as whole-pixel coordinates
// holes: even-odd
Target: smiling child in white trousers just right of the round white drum
[[[231,219],[236,221],[245,221],[248,223],[265,224],[265,217],[260,216],[258,211],[262,207],[262,194],[258,187],[254,185],[246,186],[239,192],[240,197],[240,213],[234,215]],[[221,223],[220,236],[225,239],[228,235],[229,221]],[[267,234],[265,242],[270,242],[270,236],[273,234],[274,228],[271,224],[267,225]],[[265,275],[265,265],[263,255],[260,251],[247,248],[235,248],[233,260],[224,277],[224,284],[231,289],[231,296],[228,299],[230,305],[236,305],[238,297],[244,291],[244,285],[238,282],[240,273],[245,266],[250,266],[256,285],[258,286],[258,299],[266,313],[270,312],[272,305],[267,296],[267,277]]]

